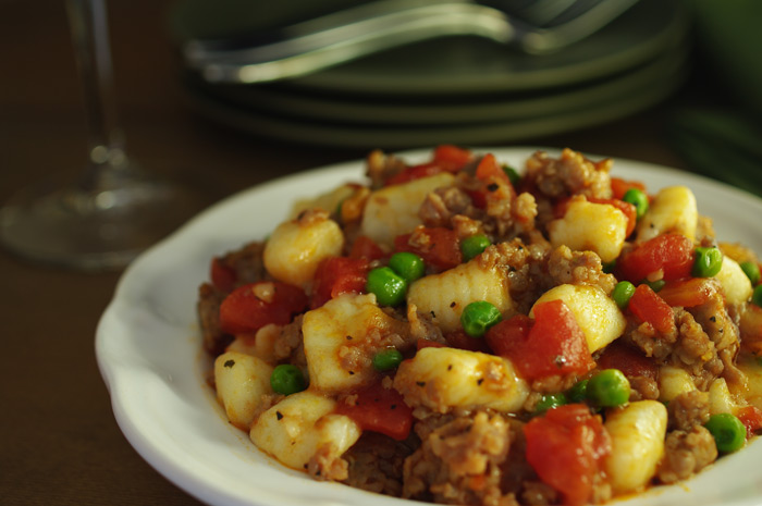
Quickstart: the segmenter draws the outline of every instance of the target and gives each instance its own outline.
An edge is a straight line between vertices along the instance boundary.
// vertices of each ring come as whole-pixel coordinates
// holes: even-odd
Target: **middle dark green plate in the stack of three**
[[[488,122],[523,122],[580,111],[601,102],[638,96],[664,75],[672,75],[687,58],[681,45],[626,73],[562,89],[472,98],[404,100],[402,97],[368,98],[339,94],[307,92],[287,86],[209,85],[189,75],[187,85],[231,107],[305,121],[356,123],[359,125],[432,126]]]

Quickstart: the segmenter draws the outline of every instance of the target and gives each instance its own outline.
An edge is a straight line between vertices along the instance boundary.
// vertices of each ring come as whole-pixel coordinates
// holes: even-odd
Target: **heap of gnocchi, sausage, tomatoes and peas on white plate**
[[[612,166],[373,151],[367,183],[212,258],[198,317],[230,423],[316,479],[460,505],[601,504],[741,449],[760,261],[688,187]]]

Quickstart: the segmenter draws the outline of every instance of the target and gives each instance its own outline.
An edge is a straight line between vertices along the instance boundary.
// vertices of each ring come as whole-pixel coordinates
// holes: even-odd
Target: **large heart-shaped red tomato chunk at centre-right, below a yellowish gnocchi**
[[[533,311],[533,321],[517,314],[487,331],[487,343],[496,355],[511,359],[529,380],[581,374],[595,366],[585,333],[563,300],[538,304]]]

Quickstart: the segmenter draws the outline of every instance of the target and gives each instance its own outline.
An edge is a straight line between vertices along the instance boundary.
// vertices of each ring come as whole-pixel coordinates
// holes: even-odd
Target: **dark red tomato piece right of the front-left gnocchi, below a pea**
[[[407,439],[413,427],[413,409],[396,390],[384,388],[381,383],[357,392],[354,405],[340,400],[336,412],[355,420],[364,431],[380,432],[397,441]]]

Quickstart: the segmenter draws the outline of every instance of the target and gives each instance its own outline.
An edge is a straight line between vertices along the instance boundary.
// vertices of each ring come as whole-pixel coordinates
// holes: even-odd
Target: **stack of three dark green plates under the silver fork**
[[[177,44],[262,29],[251,2],[225,4],[181,2],[172,13]],[[184,83],[202,114],[256,135],[361,148],[509,143],[610,122],[668,97],[687,73],[688,21],[679,0],[640,0],[548,55],[450,37],[278,83],[210,84],[190,72]]]

